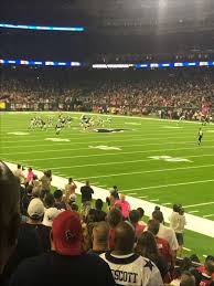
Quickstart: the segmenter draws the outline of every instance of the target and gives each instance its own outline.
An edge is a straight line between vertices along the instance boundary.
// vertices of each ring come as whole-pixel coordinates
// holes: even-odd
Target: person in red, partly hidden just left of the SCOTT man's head
[[[107,214],[107,222],[109,223],[109,248],[115,248],[115,229],[122,221],[122,214],[118,209],[111,209]]]

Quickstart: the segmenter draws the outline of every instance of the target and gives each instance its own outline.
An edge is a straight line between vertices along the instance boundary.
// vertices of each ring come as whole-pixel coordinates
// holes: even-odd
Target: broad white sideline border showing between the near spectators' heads
[[[17,165],[14,163],[8,163],[7,165],[14,170],[17,168]],[[34,171],[39,177],[42,177],[43,172],[40,171]],[[53,176],[53,181],[52,184],[53,187],[56,188],[64,188],[64,186],[67,183],[67,178],[62,178],[62,177],[57,177],[57,176]],[[79,188],[82,186],[84,186],[84,183],[77,183],[77,193],[79,192]],[[94,199],[101,199],[103,201],[106,200],[106,197],[109,195],[109,191],[101,189],[101,188],[97,188],[97,187],[93,187],[95,193],[93,195]],[[146,215],[151,216],[152,211],[154,210],[156,204],[138,199],[138,198],[131,198],[129,195],[127,195],[127,200],[130,202],[131,204],[131,209],[137,209],[139,206],[142,206]],[[165,218],[165,221],[169,222],[168,218],[170,216],[170,214],[172,213],[172,210],[165,206],[161,208],[161,211],[163,212],[163,215]],[[194,231],[211,237],[214,237],[214,222],[207,219],[203,219],[203,218],[199,218],[199,216],[194,216],[192,214],[185,214],[186,218],[186,229],[190,231]]]

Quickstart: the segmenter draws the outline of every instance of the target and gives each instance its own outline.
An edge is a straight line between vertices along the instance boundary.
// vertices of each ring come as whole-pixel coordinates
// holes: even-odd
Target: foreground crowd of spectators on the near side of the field
[[[146,222],[115,186],[93,201],[86,181],[53,190],[52,172],[12,171],[0,162],[0,285],[214,285],[214,256],[204,265],[182,255],[185,215],[173,205],[170,226],[159,206]]]

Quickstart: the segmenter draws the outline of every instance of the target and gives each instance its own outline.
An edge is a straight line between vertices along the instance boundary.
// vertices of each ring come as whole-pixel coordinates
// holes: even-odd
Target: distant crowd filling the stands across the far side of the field
[[[120,78],[94,78],[46,83],[39,77],[6,80],[0,100],[14,110],[79,110],[128,115],[157,115],[160,118],[200,120],[201,112],[214,113],[214,82],[210,70],[188,73],[150,71],[124,72]],[[104,71],[104,73],[107,73]],[[100,73],[101,74],[101,73]],[[105,74],[104,78],[108,78]]]

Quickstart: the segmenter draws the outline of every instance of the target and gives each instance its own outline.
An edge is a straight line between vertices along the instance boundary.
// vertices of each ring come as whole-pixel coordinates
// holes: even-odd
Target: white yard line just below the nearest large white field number
[[[49,160],[49,158],[47,158]],[[154,172],[172,172],[172,171],[178,171],[178,170],[192,170],[192,169],[201,169],[201,168],[210,168],[214,167],[214,163],[211,165],[200,165],[200,166],[191,166],[191,167],[179,167],[179,168],[168,168],[168,169],[157,169],[157,170],[148,170],[148,171],[136,171],[136,172],[120,172],[120,173],[108,173],[108,174],[100,174],[100,176],[90,176],[92,179],[95,178],[110,178],[110,177],[120,177],[120,176],[131,176],[131,174],[141,174],[141,173],[154,173]],[[79,178],[78,180],[86,179]]]

